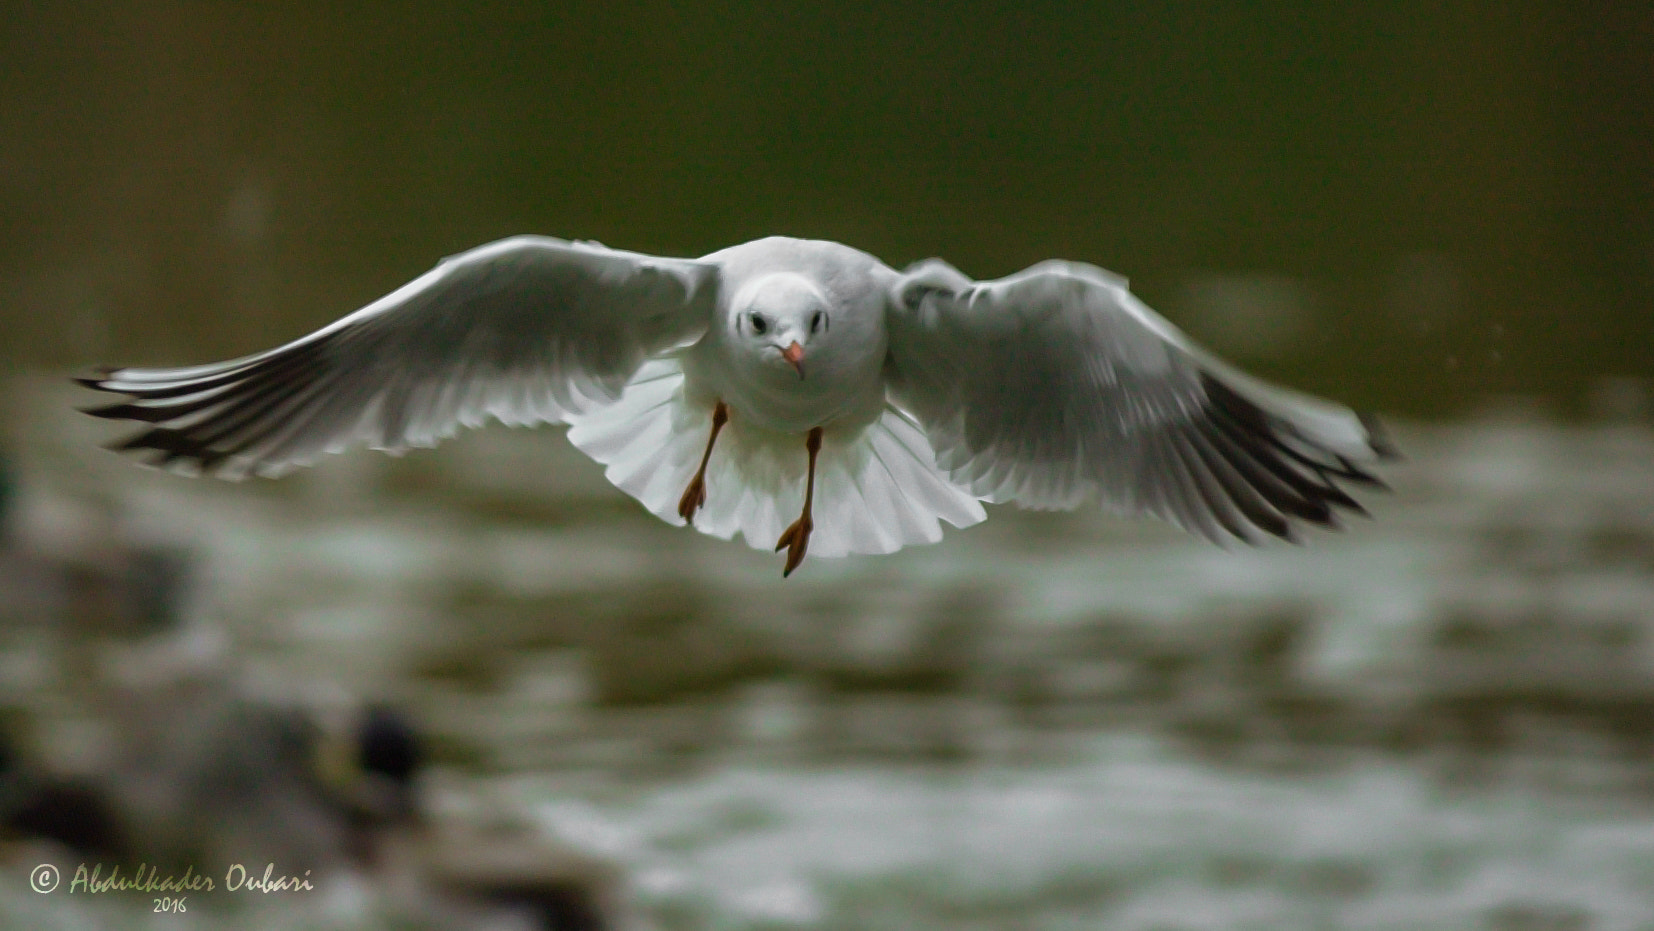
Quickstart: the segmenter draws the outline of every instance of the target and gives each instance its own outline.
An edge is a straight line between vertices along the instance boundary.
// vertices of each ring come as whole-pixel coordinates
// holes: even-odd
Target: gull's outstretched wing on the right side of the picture
[[[974,283],[910,268],[890,301],[888,379],[938,465],[989,501],[1098,498],[1214,542],[1292,537],[1360,511],[1340,481],[1378,485],[1374,422],[1265,385],[1201,351],[1123,279],[1047,261]]]

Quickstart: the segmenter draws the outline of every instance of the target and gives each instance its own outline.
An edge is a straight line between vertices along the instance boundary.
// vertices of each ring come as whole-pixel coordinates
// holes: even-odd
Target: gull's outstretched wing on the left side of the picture
[[[716,278],[693,260],[514,236],[280,349],[81,382],[129,395],[88,413],[147,425],[117,450],[276,475],[357,442],[428,446],[488,417],[559,422],[609,403],[648,356],[705,332]]]

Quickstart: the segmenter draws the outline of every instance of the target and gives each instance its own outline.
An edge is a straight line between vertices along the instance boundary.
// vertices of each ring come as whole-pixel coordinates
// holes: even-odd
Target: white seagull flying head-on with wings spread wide
[[[1297,541],[1365,514],[1341,485],[1381,488],[1370,468],[1396,455],[1371,417],[1224,364],[1100,268],[973,281],[789,236],[703,258],[513,236],[268,352],[78,380],[126,395],[86,413],[144,425],[111,448],[225,478],[567,423],[648,511],[786,549],[784,577],[805,552],[936,542],[984,501]]]

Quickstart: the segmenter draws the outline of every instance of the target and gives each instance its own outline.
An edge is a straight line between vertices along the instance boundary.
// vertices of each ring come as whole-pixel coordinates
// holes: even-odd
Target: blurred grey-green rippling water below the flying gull
[[[228,485],[99,451],[73,400],[12,385],[13,552],[142,544],[194,584],[159,633],[10,587],[0,701],[60,766],[119,742],[93,681],[210,666],[410,709],[432,810],[615,863],[645,928],[1654,928],[1636,405],[1399,425],[1374,519],[1303,547],[997,508],[782,582],[557,428]],[[137,919],[23,870],[8,921]],[[237,921],[392,921],[347,885]]]

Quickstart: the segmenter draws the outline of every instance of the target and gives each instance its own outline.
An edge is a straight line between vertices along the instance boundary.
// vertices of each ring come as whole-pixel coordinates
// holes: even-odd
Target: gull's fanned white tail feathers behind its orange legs
[[[569,423],[569,442],[605,465],[615,488],[663,521],[683,523],[678,499],[706,448],[711,410],[685,402],[676,359],[645,364],[619,402]],[[804,506],[807,463],[804,437],[743,425],[733,410],[706,466],[695,528],[772,549]],[[939,541],[939,521],[968,528],[984,518],[981,503],[936,468],[925,432],[896,408],[865,430],[827,430],[815,460],[810,556],[895,552]]]

